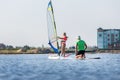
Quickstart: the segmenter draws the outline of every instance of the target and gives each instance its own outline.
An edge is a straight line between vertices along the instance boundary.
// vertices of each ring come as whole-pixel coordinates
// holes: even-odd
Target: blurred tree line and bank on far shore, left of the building
[[[74,52],[75,47],[71,46],[66,48],[66,52]],[[95,51],[96,47],[88,47],[87,51]],[[0,53],[52,53],[53,50],[50,47],[30,47],[28,45],[16,46],[5,45],[4,43],[0,43]]]

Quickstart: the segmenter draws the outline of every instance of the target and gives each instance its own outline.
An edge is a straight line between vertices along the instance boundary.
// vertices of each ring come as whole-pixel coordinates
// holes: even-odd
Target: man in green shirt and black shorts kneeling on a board
[[[75,53],[77,59],[85,58],[85,50],[87,49],[87,45],[85,41],[81,40],[80,36],[78,36],[78,41],[75,46]]]

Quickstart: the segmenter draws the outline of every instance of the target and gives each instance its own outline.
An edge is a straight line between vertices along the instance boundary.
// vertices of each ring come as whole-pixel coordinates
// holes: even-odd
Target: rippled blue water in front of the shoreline
[[[120,80],[120,54],[86,57],[101,59],[49,60],[47,54],[0,55],[0,80]]]

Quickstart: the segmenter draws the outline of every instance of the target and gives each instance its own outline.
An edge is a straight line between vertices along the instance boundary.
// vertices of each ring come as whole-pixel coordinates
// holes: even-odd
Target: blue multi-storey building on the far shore
[[[99,49],[120,49],[120,29],[97,29]]]

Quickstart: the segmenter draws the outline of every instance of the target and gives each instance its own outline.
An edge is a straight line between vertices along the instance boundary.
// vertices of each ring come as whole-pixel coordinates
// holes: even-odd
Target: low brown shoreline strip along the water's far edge
[[[120,50],[94,50],[94,51],[85,51],[86,53],[90,54],[104,54],[104,53],[113,53],[113,54],[120,54]],[[28,50],[26,52],[18,50],[0,50],[0,54],[49,54],[54,52],[45,52],[45,51],[38,51],[38,50]],[[73,50],[67,50],[66,53],[75,53]]]

